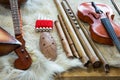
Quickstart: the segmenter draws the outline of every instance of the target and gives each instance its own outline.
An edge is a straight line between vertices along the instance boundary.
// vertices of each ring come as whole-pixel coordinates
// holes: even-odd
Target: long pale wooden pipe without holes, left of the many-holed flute
[[[83,64],[84,64],[85,66],[87,66],[88,63],[89,63],[89,58],[88,58],[88,56],[86,55],[86,53],[85,53],[85,51],[84,51],[81,43],[79,42],[79,39],[78,39],[78,37],[76,36],[76,34],[75,34],[75,32],[74,32],[74,30],[73,30],[73,28],[72,28],[72,25],[71,25],[71,23],[69,22],[69,19],[67,18],[67,15],[66,15],[64,9],[62,8],[62,5],[61,5],[60,1],[59,1],[59,0],[54,0],[54,2],[55,2],[55,4],[56,4],[56,6],[58,7],[58,10],[59,10],[59,12],[60,12],[60,14],[61,14],[64,22],[65,22],[66,28],[67,28],[67,30],[68,30],[68,32],[69,32],[69,34],[70,34],[70,36],[71,36],[74,44],[75,44],[75,47],[76,47],[76,49],[77,49],[77,51],[78,51],[78,53],[79,53],[79,56],[80,56]]]

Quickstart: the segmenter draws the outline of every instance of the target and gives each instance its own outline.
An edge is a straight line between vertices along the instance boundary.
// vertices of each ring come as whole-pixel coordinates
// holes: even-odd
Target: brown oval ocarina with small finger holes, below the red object
[[[57,57],[56,43],[49,32],[41,32],[40,50],[47,59],[55,60]]]

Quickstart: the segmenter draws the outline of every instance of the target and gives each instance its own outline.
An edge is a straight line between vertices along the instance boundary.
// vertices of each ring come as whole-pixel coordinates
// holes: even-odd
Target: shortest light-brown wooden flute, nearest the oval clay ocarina
[[[68,58],[73,58],[72,51],[71,51],[71,49],[70,49],[70,47],[69,47],[69,44],[68,44],[68,42],[67,42],[67,39],[66,39],[66,37],[65,37],[65,35],[64,35],[64,32],[63,32],[63,30],[62,30],[62,28],[61,28],[60,23],[59,23],[58,21],[55,21],[55,26],[56,26],[57,32],[58,32],[58,34],[59,34],[59,37],[60,37],[60,39],[61,39],[61,43],[62,43],[63,48],[64,48],[64,50],[65,50],[66,56],[67,56]]]

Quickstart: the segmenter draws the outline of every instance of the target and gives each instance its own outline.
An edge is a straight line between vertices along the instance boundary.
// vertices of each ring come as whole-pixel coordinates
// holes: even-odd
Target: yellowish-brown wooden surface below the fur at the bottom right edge
[[[111,68],[109,73],[100,69],[74,68],[55,77],[55,80],[120,80],[120,68]]]

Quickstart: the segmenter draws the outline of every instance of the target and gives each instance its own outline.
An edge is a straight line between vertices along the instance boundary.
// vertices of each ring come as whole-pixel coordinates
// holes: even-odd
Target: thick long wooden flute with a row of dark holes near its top
[[[85,49],[88,57],[90,58],[90,61],[94,68],[98,68],[101,66],[101,62],[99,58],[97,57],[96,53],[94,52],[93,48],[91,47],[89,41],[87,40],[86,36],[84,35],[82,29],[80,28],[78,21],[76,20],[76,17],[70,8],[69,4],[66,0],[62,1],[62,6],[74,28],[74,31],[76,32],[83,48]]]

